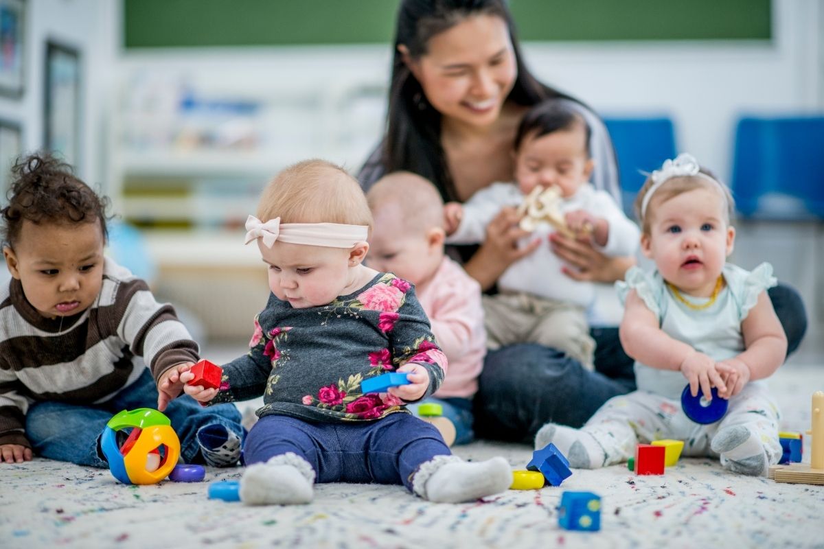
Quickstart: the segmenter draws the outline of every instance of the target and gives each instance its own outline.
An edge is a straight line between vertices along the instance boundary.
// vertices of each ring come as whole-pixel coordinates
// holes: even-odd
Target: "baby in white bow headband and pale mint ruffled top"
[[[634,456],[638,443],[684,440],[687,456],[720,456],[724,468],[766,475],[781,457],[779,414],[761,379],[784,362],[787,340],[766,289],[772,267],[747,272],[733,251],[733,198],[692,156],[666,161],[636,199],[641,250],[657,270],[637,267],[616,286],[625,300],[620,341],[635,359],[634,393],[611,398],[580,430],[549,423],[550,442],[572,467],[599,468]],[[700,425],[681,394],[728,399],[719,421]]]

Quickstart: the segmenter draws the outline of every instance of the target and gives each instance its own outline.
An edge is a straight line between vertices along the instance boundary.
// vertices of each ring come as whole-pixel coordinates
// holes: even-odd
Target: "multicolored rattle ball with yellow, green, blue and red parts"
[[[131,427],[123,446],[117,431]],[[177,465],[180,440],[171,421],[152,408],[119,412],[103,430],[101,448],[111,474],[124,484],[157,484]]]

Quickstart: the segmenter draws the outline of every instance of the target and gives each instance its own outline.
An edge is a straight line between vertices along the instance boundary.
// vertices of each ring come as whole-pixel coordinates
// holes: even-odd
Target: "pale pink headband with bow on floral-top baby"
[[[276,240],[287,244],[327,246],[329,248],[352,248],[358,242],[365,242],[369,227],[365,225],[343,225],[340,223],[281,223],[280,217],[265,223],[255,216],[246,219],[246,241],[263,240],[271,248]]]

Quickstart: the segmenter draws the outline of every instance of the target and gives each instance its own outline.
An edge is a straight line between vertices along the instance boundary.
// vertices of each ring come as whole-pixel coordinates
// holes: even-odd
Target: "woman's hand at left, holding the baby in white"
[[[492,287],[511,264],[531,254],[541,245],[541,239],[535,239],[523,248],[518,247],[518,241],[530,235],[518,226],[518,221],[521,219],[515,208],[501,208],[486,227],[484,244],[464,265],[466,272],[480,283],[483,290]]]

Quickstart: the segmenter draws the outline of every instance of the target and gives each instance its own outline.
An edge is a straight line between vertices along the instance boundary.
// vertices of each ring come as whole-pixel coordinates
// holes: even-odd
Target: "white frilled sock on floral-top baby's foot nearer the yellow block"
[[[513,471],[504,458],[465,462],[457,456],[436,456],[422,463],[412,478],[412,489],[436,503],[475,501],[508,490]]]

